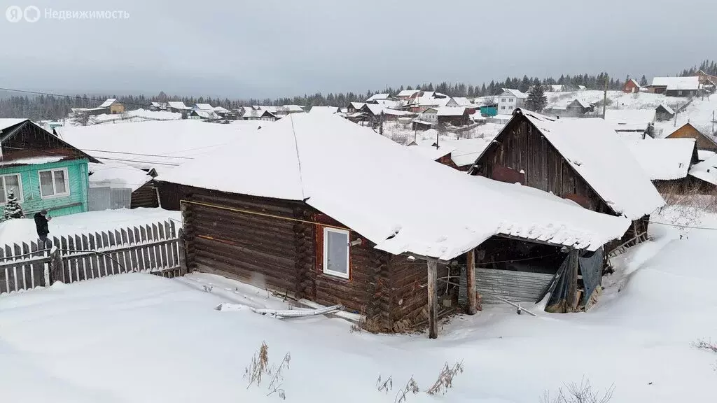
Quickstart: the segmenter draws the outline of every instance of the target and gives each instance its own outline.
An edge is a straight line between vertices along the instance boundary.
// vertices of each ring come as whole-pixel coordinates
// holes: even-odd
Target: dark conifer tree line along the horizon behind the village
[[[699,66],[693,66],[680,72],[680,75],[693,75],[697,70],[703,70],[710,75],[717,75],[717,63],[714,60],[705,60]],[[396,95],[402,90],[424,90],[436,91],[444,93],[452,97],[478,98],[492,95],[498,95],[503,88],[513,88],[521,90],[523,93],[528,92],[530,87],[534,85],[565,85],[567,88],[576,89],[579,85],[584,85],[587,90],[604,90],[607,84],[607,90],[620,90],[622,85],[630,80],[630,75],[625,80],[610,77],[607,72],[601,72],[597,75],[579,74],[579,75],[561,75],[559,78],[547,77],[540,79],[538,77],[528,77],[523,75],[520,77],[506,77],[503,81],[492,80],[488,84],[485,82],[481,85],[470,85],[464,82],[449,83],[440,82],[434,84],[427,82],[417,85],[401,85],[400,87],[386,87],[383,90],[367,91],[366,93],[315,93],[304,94],[294,97],[283,98],[249,98],[234,99],[229,98],[212,98],[212,97],[177,97],[169,96],[161,92],[158,95],[98,95],[87,96],[75,95],[16,95],[16,93],[0,91],[0,118],[29,118],[31,120],[60,120],[67,117],[72,108],[95,108],[103,103],[106,98],[117,98],[120,103],[125,104],[126,109],[133,110],[144,108],[147,109],[152,102],[166,102],[168,100],[178,100],[184,102],[185,105],[194,105],[195,103],[209,103],[212,106],[222,106],[227,109],[235,109],[242,106],[250,105],[302,105],[302,106],[338,106],[345,107],[351,102],[361,102],[377,93],[389,93]],[[645,75],[639,80],[640,85],[647,85]]]

